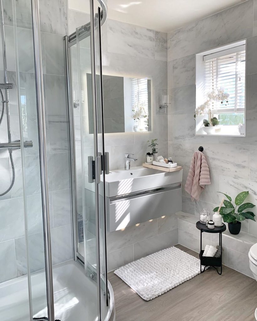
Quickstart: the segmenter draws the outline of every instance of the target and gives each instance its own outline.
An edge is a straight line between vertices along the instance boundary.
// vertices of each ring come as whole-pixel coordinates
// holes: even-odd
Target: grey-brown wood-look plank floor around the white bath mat
[[[177,245],[185,252],[192,250]],[[115,296],[116,321],[254,321],[257,282],[223,266],[213,268],[167,293],[145,301],[113,272],[108,273]]]

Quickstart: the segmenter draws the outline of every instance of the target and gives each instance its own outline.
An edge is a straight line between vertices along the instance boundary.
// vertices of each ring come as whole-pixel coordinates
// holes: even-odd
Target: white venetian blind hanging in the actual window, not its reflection
[[[245,45],[203,56],[204,92],[225,88],[226,102],[212,102],[219,114],[242,113],[245,105]]]

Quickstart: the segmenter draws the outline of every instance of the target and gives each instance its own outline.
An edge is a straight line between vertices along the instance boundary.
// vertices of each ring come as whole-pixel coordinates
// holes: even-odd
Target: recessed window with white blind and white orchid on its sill
[[[245,43],[196,55],[196,134],[245,136]]]

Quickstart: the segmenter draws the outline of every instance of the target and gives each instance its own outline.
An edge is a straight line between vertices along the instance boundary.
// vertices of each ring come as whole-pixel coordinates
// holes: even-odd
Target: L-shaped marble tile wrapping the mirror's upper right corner
[[[167,88],[167,62],[133,57],[133,76],[152,78],[155,88]]]

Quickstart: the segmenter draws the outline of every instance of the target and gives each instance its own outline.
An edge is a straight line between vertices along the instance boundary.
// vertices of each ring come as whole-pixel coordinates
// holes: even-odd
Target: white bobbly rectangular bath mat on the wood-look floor
[[[169,247],[124,265],[114,273],[149,301],[199,274],[200,260],[177,247]]]

